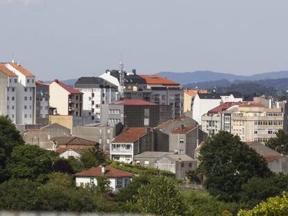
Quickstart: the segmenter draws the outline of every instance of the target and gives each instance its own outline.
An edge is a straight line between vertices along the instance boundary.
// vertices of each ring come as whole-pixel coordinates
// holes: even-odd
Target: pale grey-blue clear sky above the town
[[[0,0],[0,61],[42,80],[288,70],[287,0]],[[121,57],[122,56],[122,57]]]

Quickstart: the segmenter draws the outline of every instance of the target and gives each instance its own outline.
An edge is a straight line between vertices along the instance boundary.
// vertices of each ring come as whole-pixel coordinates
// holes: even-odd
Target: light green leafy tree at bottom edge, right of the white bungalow
[[[141,213],[165,216],[193,215],[191,206],[184,203],[173,178],[152,177],[150,183],[141,186],[136,199]]]

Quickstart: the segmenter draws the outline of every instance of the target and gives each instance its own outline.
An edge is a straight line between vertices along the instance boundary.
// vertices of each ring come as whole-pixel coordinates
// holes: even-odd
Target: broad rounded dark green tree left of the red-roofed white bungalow
[[[59,156],[55,151],[26,144],[13,149],[6,168],[8,174],[13,178],[35,180],[40,174],[52,172],[52,165],[58,158]]]

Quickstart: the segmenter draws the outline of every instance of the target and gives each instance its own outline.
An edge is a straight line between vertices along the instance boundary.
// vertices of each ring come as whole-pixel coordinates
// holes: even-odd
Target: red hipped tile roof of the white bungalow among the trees
[[[106,166],[105,167],[105,174],[102,174],[102,167],[95,167],[92,169],[88,169],[83,172],[79,172],[74,174],[73,176],[81,176],[81,177],[101,177],[106,176],[107,178],[122,178],[122,177],[132,177],[134,174],[129,172],[124,172],[119,169],[115,169],[113,167]]]

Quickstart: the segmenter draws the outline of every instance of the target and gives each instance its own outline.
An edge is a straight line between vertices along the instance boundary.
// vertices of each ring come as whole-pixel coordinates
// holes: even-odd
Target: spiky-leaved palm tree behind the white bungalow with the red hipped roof
[[[104,151],[99,151],[97,147],[86,149],[81,153],[81,158],[84,167],[90,169],[91,167],[98,167],[106,162]]]

